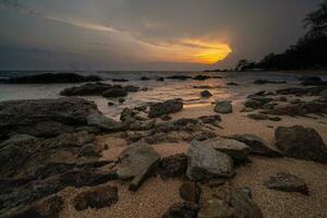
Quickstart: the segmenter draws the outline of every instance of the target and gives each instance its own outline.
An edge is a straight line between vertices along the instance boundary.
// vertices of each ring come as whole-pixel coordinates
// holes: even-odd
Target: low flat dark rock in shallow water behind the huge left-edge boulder
[[[65,88],[60,92],[62,96],[96,96],[101,95],[105,90],[112,88],[109,84],[87,83],[78,87]]]

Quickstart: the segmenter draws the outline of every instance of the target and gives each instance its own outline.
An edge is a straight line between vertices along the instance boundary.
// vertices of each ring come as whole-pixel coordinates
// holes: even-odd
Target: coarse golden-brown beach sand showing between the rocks
[[[233,113],[222,114],[222,130],[217,130],[219,135],[231,135],[240,133],[252,133],[266,140],[274,147],[274,133],[277,126],[291,126],[300,124],[314,128],[319,132],[325,143],[327,143],[327,118],[314,120],[311,118],[281,117],[279,122],[255,121],[246,118],[246,113],[240,112],[243,108],[242,101],[233,102]],[[181,112],[172,114],[173,119],[198,118],[201,116],[215,114],[214,106],[186,107]],[[116,160],[120,153],[126,148],[128,144],[120,138],[119,134],[106,135],[98,138],[98,144],[108,145],[104,152],[102,159]],[[162,156],[169,156],[187,150],[187,143],[158,144],[154,148]],[[253,192],[253,198],[261,207],[266,218],[325,218],[327,217],[327,166],[292,158],[266,158],[251,157],[252,164],[241,166],[237,169],[237,175],[231,180],[231,184],[237,187],[247,186]],[[264,180],[279,171],[293,173],[303,178],[310,189],[310,195],[299,193],[284,193],[268,190],[263,185]],[[65,208],[61,213],[61,218],[157,218],[160,217],[168,207],[180,202],[179,186],[182,179],[161,180],[159,177],[148,179],[136,192],[128,190],[128,183],[110,182],[119,187],[119,201],[110,208],[87,209],[76,211],[70,204],[73,196],[84,189],[69,187],[60,195],[64,196]],[[203,197],[209,195],[213,190],[202,185]]]

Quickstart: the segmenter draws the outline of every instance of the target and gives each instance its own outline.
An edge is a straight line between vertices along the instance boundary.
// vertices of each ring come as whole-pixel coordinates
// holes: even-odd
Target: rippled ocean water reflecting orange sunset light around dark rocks
[[[22,76],[27,74],[38,74],[44,72],[1,72],[0,78],[8,78],[13,76]],[[56,73],[56,72],[55,72]],[[84,97],[97,104],[100,111],[106,116],[118,119],[120,112],[125,107],[135,107],[146,105],[148,102],[162,101],[171,98],[182,98],[185,107],[198,107],[210,104],[215,100],[240,100],[247,95],[255,92],[275,90],[282,87],[295,86],[299,84],[299,74],[281,73],[281,72],[217,72],[217,73],[199,73],[199,72],[75,72],[82,75],[99,75],[108,84],[120,85],[136,85],[140,87],[147,87],[147,92],[130,93],[125,97],[125,102],[119,104],[117,99],[107,99],[101,96]],[[157,82],[158,77],[167,77],[171,75],[210,75],[219,76],[206,81],[178,81],[166,80],[165,82]],[[314,75],[314,74],[311,74]],[[149,81],[142,81],[142,76],[147,76]],[[327,80],[327,75],[319,75]],[[112,78],[126,78],[126,83],[113,83]],[[286,81],[287,84],[266,84],[254,85],[255,80],[269,81]],[[238,83],[239,86],[229,86],[228,83]],[[80,86],[81,84],[28,84],[28,85],[11,85],[0,84],[0,101],[17,100],[17,99],[43,99],[43,98],[59,98],[59,93],[72,86]],[[195,86],[211,86],[207,88],[213,97],[201,98],[199,93],[206,88],[196,88]],[[116,102],[114,106],[108,106],[108,101]]]

